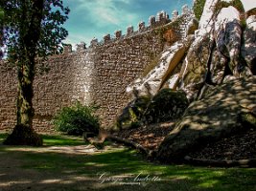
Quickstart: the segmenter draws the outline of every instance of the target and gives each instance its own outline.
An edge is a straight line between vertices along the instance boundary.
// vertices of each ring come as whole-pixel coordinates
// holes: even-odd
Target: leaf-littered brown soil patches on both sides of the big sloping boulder
[[[122,138],[140,143],[150,150],[157,150],[161,141],[174,129],[175,122],[152,124],[137,129],[123,130],[117,134]],[[223,138],[198,148],[197,152],[188,153],[196,159],[256,159],[256,129],[239,133],[230,138]]]

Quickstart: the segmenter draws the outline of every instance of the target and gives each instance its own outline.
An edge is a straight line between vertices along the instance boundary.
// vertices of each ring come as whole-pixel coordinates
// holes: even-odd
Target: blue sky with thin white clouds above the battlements
[[[106,33],[122,30],[124,34],[130,25],[136,31],[140,21],[148,25],[149,17],[158,11],[171,15],[184,4],[191,8],[193,0],[63,0],[63,4],[71,10],[64,42],[74,46],[83,41],[88,47],[93,37],[100,41]]]

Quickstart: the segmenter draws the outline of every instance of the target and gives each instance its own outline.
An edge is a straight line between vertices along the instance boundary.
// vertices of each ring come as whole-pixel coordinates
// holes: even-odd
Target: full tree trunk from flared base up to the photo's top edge
[[[17,61],[18,96],[17,125],[4,141],[13,145],[42,145],[33,129],[33,81],[35,77],[36,46],[40,37],[43,0],[22,1],[22,18],[19,25],[19,53]],[[32,6],[30,11],[30,6]]]

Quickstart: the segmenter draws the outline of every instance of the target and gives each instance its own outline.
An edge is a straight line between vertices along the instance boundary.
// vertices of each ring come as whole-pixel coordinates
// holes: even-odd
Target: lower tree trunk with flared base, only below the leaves
[[[35,63],[29,59],[18,64],[18,96],[17,96],[17,125],[12,134],[5,140],[11,145],[42,145],[42,138],[33,129],[33,81]]]

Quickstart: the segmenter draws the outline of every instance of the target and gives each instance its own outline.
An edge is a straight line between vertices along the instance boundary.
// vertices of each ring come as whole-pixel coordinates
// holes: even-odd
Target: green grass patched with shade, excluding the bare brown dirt
[[[2,138],[2,135],[0,136]],[[47,139],[57,138],[60,142],[66,142],[62,137],[44,137]],[[74,138],[70,138],[71,141]],[[81,141],[77,139],[78,143]],[[71,141],[72,142],[72,141]],[[59,145],[59,142],[56,142]],[[50,145],[54,141],[49,142]],[[61,145],[62,143],[60,143]],[[39,148],[37,148],[38,150]],[[40,174],[60,177],[88,177],[95,181],[86,182],[90,189],[95,184],[100,185],[104,178],[105,183],[99,190],[224,190],[224,191],[250,191],[256,187],[255,168],[215,168],[195,167],[190,165],[161,165],[151,163],[133,150],[118,148],[104,151],[98,154],[70,155],[54,152],[19,151],[13,147],[0,147],[1,155],[9,157],[18,155],[22,160],[21,168],[34,170]],[[100,176],[103,175],[103,179]],[[113,183],[115,176],[122,176],[124,182],[139,182],[134,180],[137,176],[141,180],[140,185],[124,185]],[[146,177],[148,176],[148,180]],[[157,180],[152,180],[157,177]],[[91,184],[90,184],[91,183]],[[76,182],[70,190],[80,190]],[[68,189],[69,190],[69,189]]]

